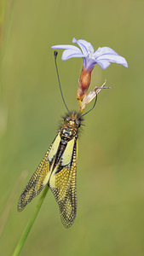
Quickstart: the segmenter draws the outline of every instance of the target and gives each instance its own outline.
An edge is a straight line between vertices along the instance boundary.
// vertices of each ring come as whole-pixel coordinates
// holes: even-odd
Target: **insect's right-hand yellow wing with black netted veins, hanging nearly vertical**
[[[77,138],[67,143],[59,163],[49,179],[49,187],[60,207],[60,218],[66,228],[70,228],[77,213]]]

